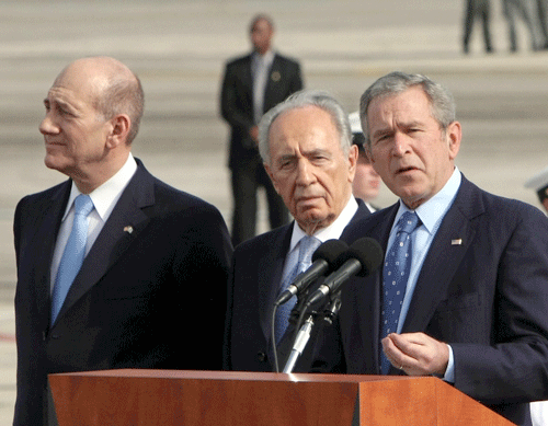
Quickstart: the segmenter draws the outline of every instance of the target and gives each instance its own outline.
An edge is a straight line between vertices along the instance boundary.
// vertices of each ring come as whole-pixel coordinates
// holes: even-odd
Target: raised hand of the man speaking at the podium
[[[409,376],[445,375],[449,348],[424,333],[391,333],[383,338],[388,360]]]

